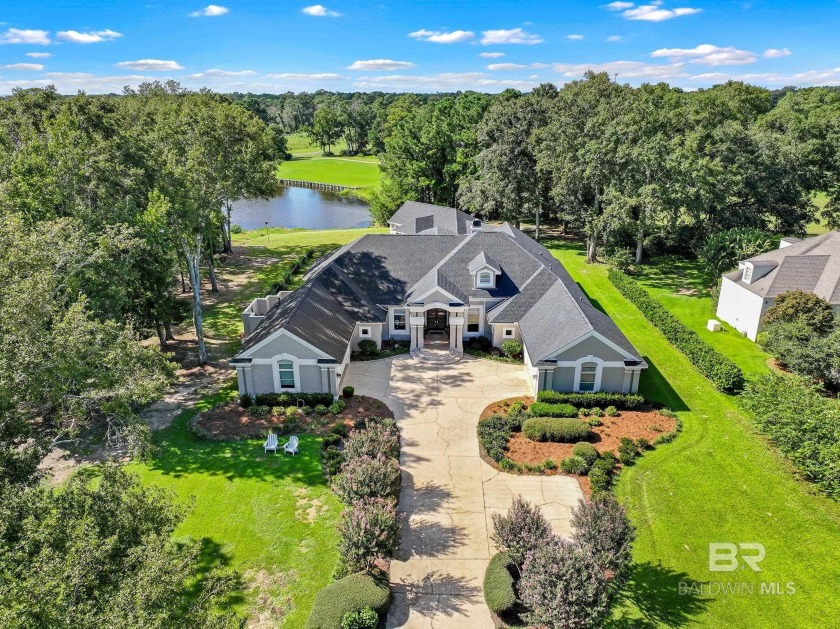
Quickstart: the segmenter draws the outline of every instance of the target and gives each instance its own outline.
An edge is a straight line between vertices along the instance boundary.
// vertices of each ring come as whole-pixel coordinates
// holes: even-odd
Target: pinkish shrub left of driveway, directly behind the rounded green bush
[[[342,511],[338,535],[342,572],[370,572],[400,542],[396,507],[384,498],[364,498]]]

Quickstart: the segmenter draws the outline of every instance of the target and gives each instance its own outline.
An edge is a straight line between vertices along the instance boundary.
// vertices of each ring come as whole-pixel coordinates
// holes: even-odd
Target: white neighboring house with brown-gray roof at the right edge
[[[840,311],[840,232],[782,238],[775,251],[739,262],[723,276],[717,316],[754,341],[764,313],[791,290],[814,293]]]

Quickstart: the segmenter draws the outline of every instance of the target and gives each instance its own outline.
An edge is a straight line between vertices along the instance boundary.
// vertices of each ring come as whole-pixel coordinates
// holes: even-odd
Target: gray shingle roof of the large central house
[[[440,288],[463,303],[501,299],[489,320],[518,322],[534,362],[589,332],[640,358],[545,247],[506,223],[470,234],[473,217],[453,208],[408,202],[394,216],[429,216],[428,208],[435,217],[448,212],[446,220],[462,222],[463,234],[369,234],[341,247],[319,260],[304,285],[269,311],[243,351],[285,328],[340,361],[356,322],[384,322],[383,306],[411,303]],[[475,288],[473,273],[481,266],[501,271],[495,288]]]

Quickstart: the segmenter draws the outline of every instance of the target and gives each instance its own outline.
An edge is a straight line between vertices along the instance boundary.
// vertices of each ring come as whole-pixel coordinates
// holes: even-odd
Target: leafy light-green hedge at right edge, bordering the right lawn
[[[744,403],[802,476],[840,499],[840,405],[804,378],[771,374],[751,382]]]

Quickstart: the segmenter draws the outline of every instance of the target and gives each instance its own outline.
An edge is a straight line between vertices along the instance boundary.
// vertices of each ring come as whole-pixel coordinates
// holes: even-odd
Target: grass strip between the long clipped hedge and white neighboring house
[[[747,380],[769,373],[770,355],[737,330],[723,323],[721,332],[709,332],[706,323],[717,319],[712,292],[696,260],[668,258],[639,268],[634,276],[671,314],[697,332],[704,341],[731,359]]]

